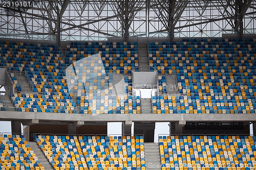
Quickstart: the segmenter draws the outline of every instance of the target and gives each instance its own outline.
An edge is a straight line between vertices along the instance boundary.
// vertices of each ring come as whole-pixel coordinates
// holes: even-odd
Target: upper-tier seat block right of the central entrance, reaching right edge
[[[256,39],[149,43],[151,69],[177,74],[183,95],[153,101],[163,105],[155,112],[166,112],[163,107],[169,106],[174,113],[255,113],[255,46]]]

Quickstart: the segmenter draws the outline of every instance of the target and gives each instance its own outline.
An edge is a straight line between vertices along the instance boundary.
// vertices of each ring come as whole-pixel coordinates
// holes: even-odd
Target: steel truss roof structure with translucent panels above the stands
[[[0,37],[221,37],[256,33],[252,0],[1,0]]]

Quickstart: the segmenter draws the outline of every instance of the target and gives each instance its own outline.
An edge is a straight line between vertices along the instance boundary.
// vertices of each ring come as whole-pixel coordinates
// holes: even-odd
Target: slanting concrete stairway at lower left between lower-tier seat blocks
[[[45,167],[46,170],[53,169],[53,167],[50,165],[49,161],[46,159],[45,155],[42,153],[42,151],[39,149],[36,142],[28,142],[30,145],[32,151],[36,154],[38,160],[40,160],[40,163],[42,166]]]

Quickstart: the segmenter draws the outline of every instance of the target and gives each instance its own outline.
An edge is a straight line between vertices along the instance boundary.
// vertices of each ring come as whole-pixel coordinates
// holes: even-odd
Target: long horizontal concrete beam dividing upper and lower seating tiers
[[[256,114],[70,114],[0,111],[0,120],[56,122],[256,122]]]

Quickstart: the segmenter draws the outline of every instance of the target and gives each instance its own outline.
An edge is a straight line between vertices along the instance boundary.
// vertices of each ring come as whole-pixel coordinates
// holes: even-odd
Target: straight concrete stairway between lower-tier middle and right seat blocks
[[[147,170],[161,170],[160,150],[158,143],[144,143],[145,167]]]

